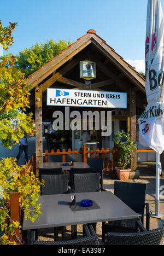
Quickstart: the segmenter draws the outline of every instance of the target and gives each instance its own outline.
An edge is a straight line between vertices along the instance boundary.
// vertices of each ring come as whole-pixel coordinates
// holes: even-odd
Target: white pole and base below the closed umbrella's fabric
[[[155,186],[155,214],[151,215],[151,217],[156,219],[161,219],[162,222],[162,214],[160,214],[160,175],[161,175],[161,163],[160,163],[160,154],[156,153],[156,186]]]

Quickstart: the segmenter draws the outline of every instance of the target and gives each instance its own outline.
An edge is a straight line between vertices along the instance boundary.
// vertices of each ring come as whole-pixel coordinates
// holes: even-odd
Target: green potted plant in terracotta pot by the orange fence
[[[127,166],[130,164],[131,156],[136,149],[136,144],[131,140],[130,134],[124,131],[116,133],[114,142],[116,152],[118,152],[118,166],[115,167],[115,170],[120,180],[126,180],[130,176],[131,169]]]

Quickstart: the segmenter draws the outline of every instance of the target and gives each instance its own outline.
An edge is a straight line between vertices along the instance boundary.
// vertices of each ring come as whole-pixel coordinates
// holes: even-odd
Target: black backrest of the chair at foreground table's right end
[[[117,182],[114,183],[114,194],[125,202],[134,212],[144,214],[147,184]]]

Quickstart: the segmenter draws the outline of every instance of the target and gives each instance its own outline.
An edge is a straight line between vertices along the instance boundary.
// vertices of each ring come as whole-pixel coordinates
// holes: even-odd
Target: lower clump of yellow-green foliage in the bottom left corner
[[[27,166],[18,166],[16,159],[3,158],[0,162],[0,186],[3,187],[3,200],[1,200],[0,208],[0,225],[3,232],[1,242],[3,245],[21,243],[19,238],[15,236],[15,229],[21,228],[19,222],[13,222],[10,218],[7,200],[9,200],[10,191],[19,192],[19,205],[25,212],[26,219],[30,218],[32,222],[37,219],[40,212],[40,205],[37,205],[40,182],[33,172]],[[32,206],[33,208],[31,208]],[[10,242],[10,237],[15,237],[13,243]]]

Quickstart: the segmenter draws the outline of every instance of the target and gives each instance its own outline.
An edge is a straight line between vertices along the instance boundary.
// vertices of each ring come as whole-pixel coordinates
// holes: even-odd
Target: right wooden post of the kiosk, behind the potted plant
[[[130,90],[130,127],[131,127],[131,140],[136,143],[137,139],[137,128],[136,128],[136,92]],[[137,153],[134,152],[131,158],[131,170],[136,171],[137,169]]]

